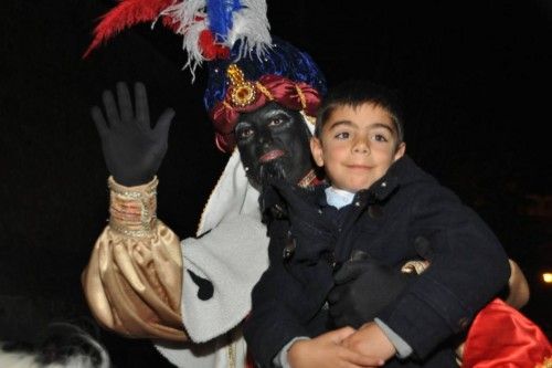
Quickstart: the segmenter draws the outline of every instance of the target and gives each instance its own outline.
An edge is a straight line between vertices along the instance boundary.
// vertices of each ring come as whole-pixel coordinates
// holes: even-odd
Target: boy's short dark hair
[[[342,106],[355,108],[364,104],[373,104],[389,113],[395,126],[399,143],[402,143],[404,126],[399,93],[383,85],[362,80],[347,81],[330,88],[318,109],[315,136],[320,137],[323,125],[336,108]]]

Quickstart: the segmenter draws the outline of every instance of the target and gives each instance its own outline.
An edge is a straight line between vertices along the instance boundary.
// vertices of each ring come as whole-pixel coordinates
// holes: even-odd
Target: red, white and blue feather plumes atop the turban
[[[258,0],[120,0],[94,29],[94,40],[84,57],[120,31],[161,19],[183,36],[188,53],[184,67],[192,75],[203,61],[225,59],[241,41],[238,55],[255,50],[261,57],[270,45],[266,2]]]

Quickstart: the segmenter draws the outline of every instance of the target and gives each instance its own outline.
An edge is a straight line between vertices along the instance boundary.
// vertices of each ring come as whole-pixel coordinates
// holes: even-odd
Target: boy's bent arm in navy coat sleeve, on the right
[[[408,235],[415,245],[431,245],[435,257],[378,315],[420,358],[465,330],[510,274],[502,246],[474,211],[444,188],[425,192],[413,204]]]

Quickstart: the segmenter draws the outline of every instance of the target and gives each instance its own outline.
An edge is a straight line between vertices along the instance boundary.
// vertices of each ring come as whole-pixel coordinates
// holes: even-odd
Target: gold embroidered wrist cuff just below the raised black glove
[[[152,235],[157,221],[158,183],[159,180],[153,177],[146,185],[125,187],[109,177],[109,228],[132,238]]]

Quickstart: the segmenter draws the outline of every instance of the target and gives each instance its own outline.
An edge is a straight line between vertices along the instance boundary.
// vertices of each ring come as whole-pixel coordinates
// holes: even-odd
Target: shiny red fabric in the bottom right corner
[[[500,299],[474,319],[463,368],[534,368],[552,356],[546,336],[533,322]]]

